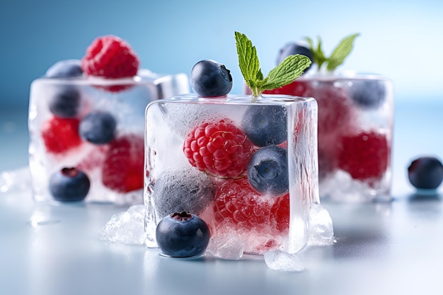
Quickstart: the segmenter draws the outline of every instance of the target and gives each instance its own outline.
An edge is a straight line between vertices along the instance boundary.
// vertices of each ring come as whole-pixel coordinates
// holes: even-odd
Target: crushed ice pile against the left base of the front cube
[[[103,241],[127,245],[144,243],[144,205],[133,205],[111,217],[100,237]]]

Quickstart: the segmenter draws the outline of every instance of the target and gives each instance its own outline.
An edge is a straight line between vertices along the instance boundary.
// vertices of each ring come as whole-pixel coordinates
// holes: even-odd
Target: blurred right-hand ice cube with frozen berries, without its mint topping
[[[343,202],[391,199],[391,80],[354,72],[308,73],[267,93],[317,100],[321,198]]]

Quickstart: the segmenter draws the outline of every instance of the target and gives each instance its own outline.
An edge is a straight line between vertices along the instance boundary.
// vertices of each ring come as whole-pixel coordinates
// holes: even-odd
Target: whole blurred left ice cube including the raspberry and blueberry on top
[[[142,203],[144,109],[188,92],[187,75],[140,69],[129,43],[114,35],[97,37],[81,59],[50,66],[30,87],[34,198]],[[81,197],[71,175],[90,183]]]

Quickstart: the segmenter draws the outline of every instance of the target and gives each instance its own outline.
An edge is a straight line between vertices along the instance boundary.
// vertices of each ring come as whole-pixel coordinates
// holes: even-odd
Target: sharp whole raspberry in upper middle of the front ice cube
[[[251,141],[229,120],[202,123],[183,144],[183,152],[192,166],[226,178],[244,173],[253,151]]]

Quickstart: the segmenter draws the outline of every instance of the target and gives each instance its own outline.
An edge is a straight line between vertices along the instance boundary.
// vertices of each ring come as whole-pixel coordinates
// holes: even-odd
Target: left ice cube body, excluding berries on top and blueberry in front
[[[146,69],[124,79],[33,81],[28,125],[34,199],[53,200],[52,175],[76,168],[91,182],[85,201],[142,204],[146,105],[188,91],[185,74]]]

